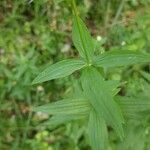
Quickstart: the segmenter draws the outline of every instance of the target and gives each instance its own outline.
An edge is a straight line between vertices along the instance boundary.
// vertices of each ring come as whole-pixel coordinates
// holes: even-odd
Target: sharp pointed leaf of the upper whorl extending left
[[[80,59],[68,59],[50,65],[41,72],[32,82],[32,84],[45,82],[52,79],[66,77],[76,70],[85,66],[84,61]]]

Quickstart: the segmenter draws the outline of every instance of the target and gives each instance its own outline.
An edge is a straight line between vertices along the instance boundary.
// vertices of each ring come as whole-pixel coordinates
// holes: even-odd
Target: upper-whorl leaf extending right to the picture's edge
[[[149,63],[150,55],[132,51],[109,51],[94,59],[98,67],[120,67],[136,63]]]

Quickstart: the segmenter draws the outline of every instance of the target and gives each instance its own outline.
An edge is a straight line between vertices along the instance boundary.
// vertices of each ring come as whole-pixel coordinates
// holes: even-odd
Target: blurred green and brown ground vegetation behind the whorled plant
[[[1,150],[90,150],[82,122],[54,130],[39,125],[49,116],[30,111],[71,92],[72,78],[31,85],[49,64],[77,55],[71,40],[71,8],[67,2],[57,2],[0,0]],[[77,4],[99,52],[150,53],[150,0],[78,0]],[[123,83],[121,95],[150,95],[149,72],[150,65],[137,64],[110,69],[107,78]],[[124,142],[110,130],[109,150],[149,150],[149,114],[128,121]]]

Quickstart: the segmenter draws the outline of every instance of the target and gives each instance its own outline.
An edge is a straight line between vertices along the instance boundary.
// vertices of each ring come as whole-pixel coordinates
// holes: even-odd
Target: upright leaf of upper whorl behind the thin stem
[[[84,22],[76,16],[73,19],[72,39],[80,56],[91,60],[95,47],[93,39]]]

